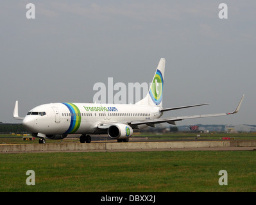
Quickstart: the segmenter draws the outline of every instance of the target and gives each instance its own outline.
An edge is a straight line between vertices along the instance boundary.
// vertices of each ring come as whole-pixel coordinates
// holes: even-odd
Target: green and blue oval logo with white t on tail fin
[[[157,69],[153,82],[151,84],[149,95],[152,101],[158,105],[162,102],[162,92],[164,87],[164,79],[160,70]]]

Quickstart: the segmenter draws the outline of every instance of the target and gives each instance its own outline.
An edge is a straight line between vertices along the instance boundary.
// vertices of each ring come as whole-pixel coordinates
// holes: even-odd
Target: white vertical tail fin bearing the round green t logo
[[[144,99],[135,104],[155,105],[162,107],[165,67],[166,59],[161,58],[157,66],[157,70],[155,71],[153,80],[150,84],[148,94],[146,97],[144,97]]]

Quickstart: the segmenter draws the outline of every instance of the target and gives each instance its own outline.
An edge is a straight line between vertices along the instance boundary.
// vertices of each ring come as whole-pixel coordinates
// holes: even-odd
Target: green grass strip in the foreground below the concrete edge
[[[256,152],[0,154],[0,192],[256,192]],[[35,171],[35,186],[26,171]],[[228,185],[218,184],[219,170]]]

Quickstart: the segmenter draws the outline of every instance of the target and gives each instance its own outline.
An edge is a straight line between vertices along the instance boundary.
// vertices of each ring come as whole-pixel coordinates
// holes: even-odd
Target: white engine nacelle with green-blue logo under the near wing
[[[108,127],[108,136],[112,139],[126,139],[132,136],[133,129],[127,124],[113,124]]]

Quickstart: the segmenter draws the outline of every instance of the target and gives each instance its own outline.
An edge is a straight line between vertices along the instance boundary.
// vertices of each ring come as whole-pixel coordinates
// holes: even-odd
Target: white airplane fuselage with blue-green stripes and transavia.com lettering
[[[97,129],[100,123],[158,119],[162,116],[159,109],[135,104],[51,103],[30,110],[22,124],[31,133],[44,135],[103,134]]]

